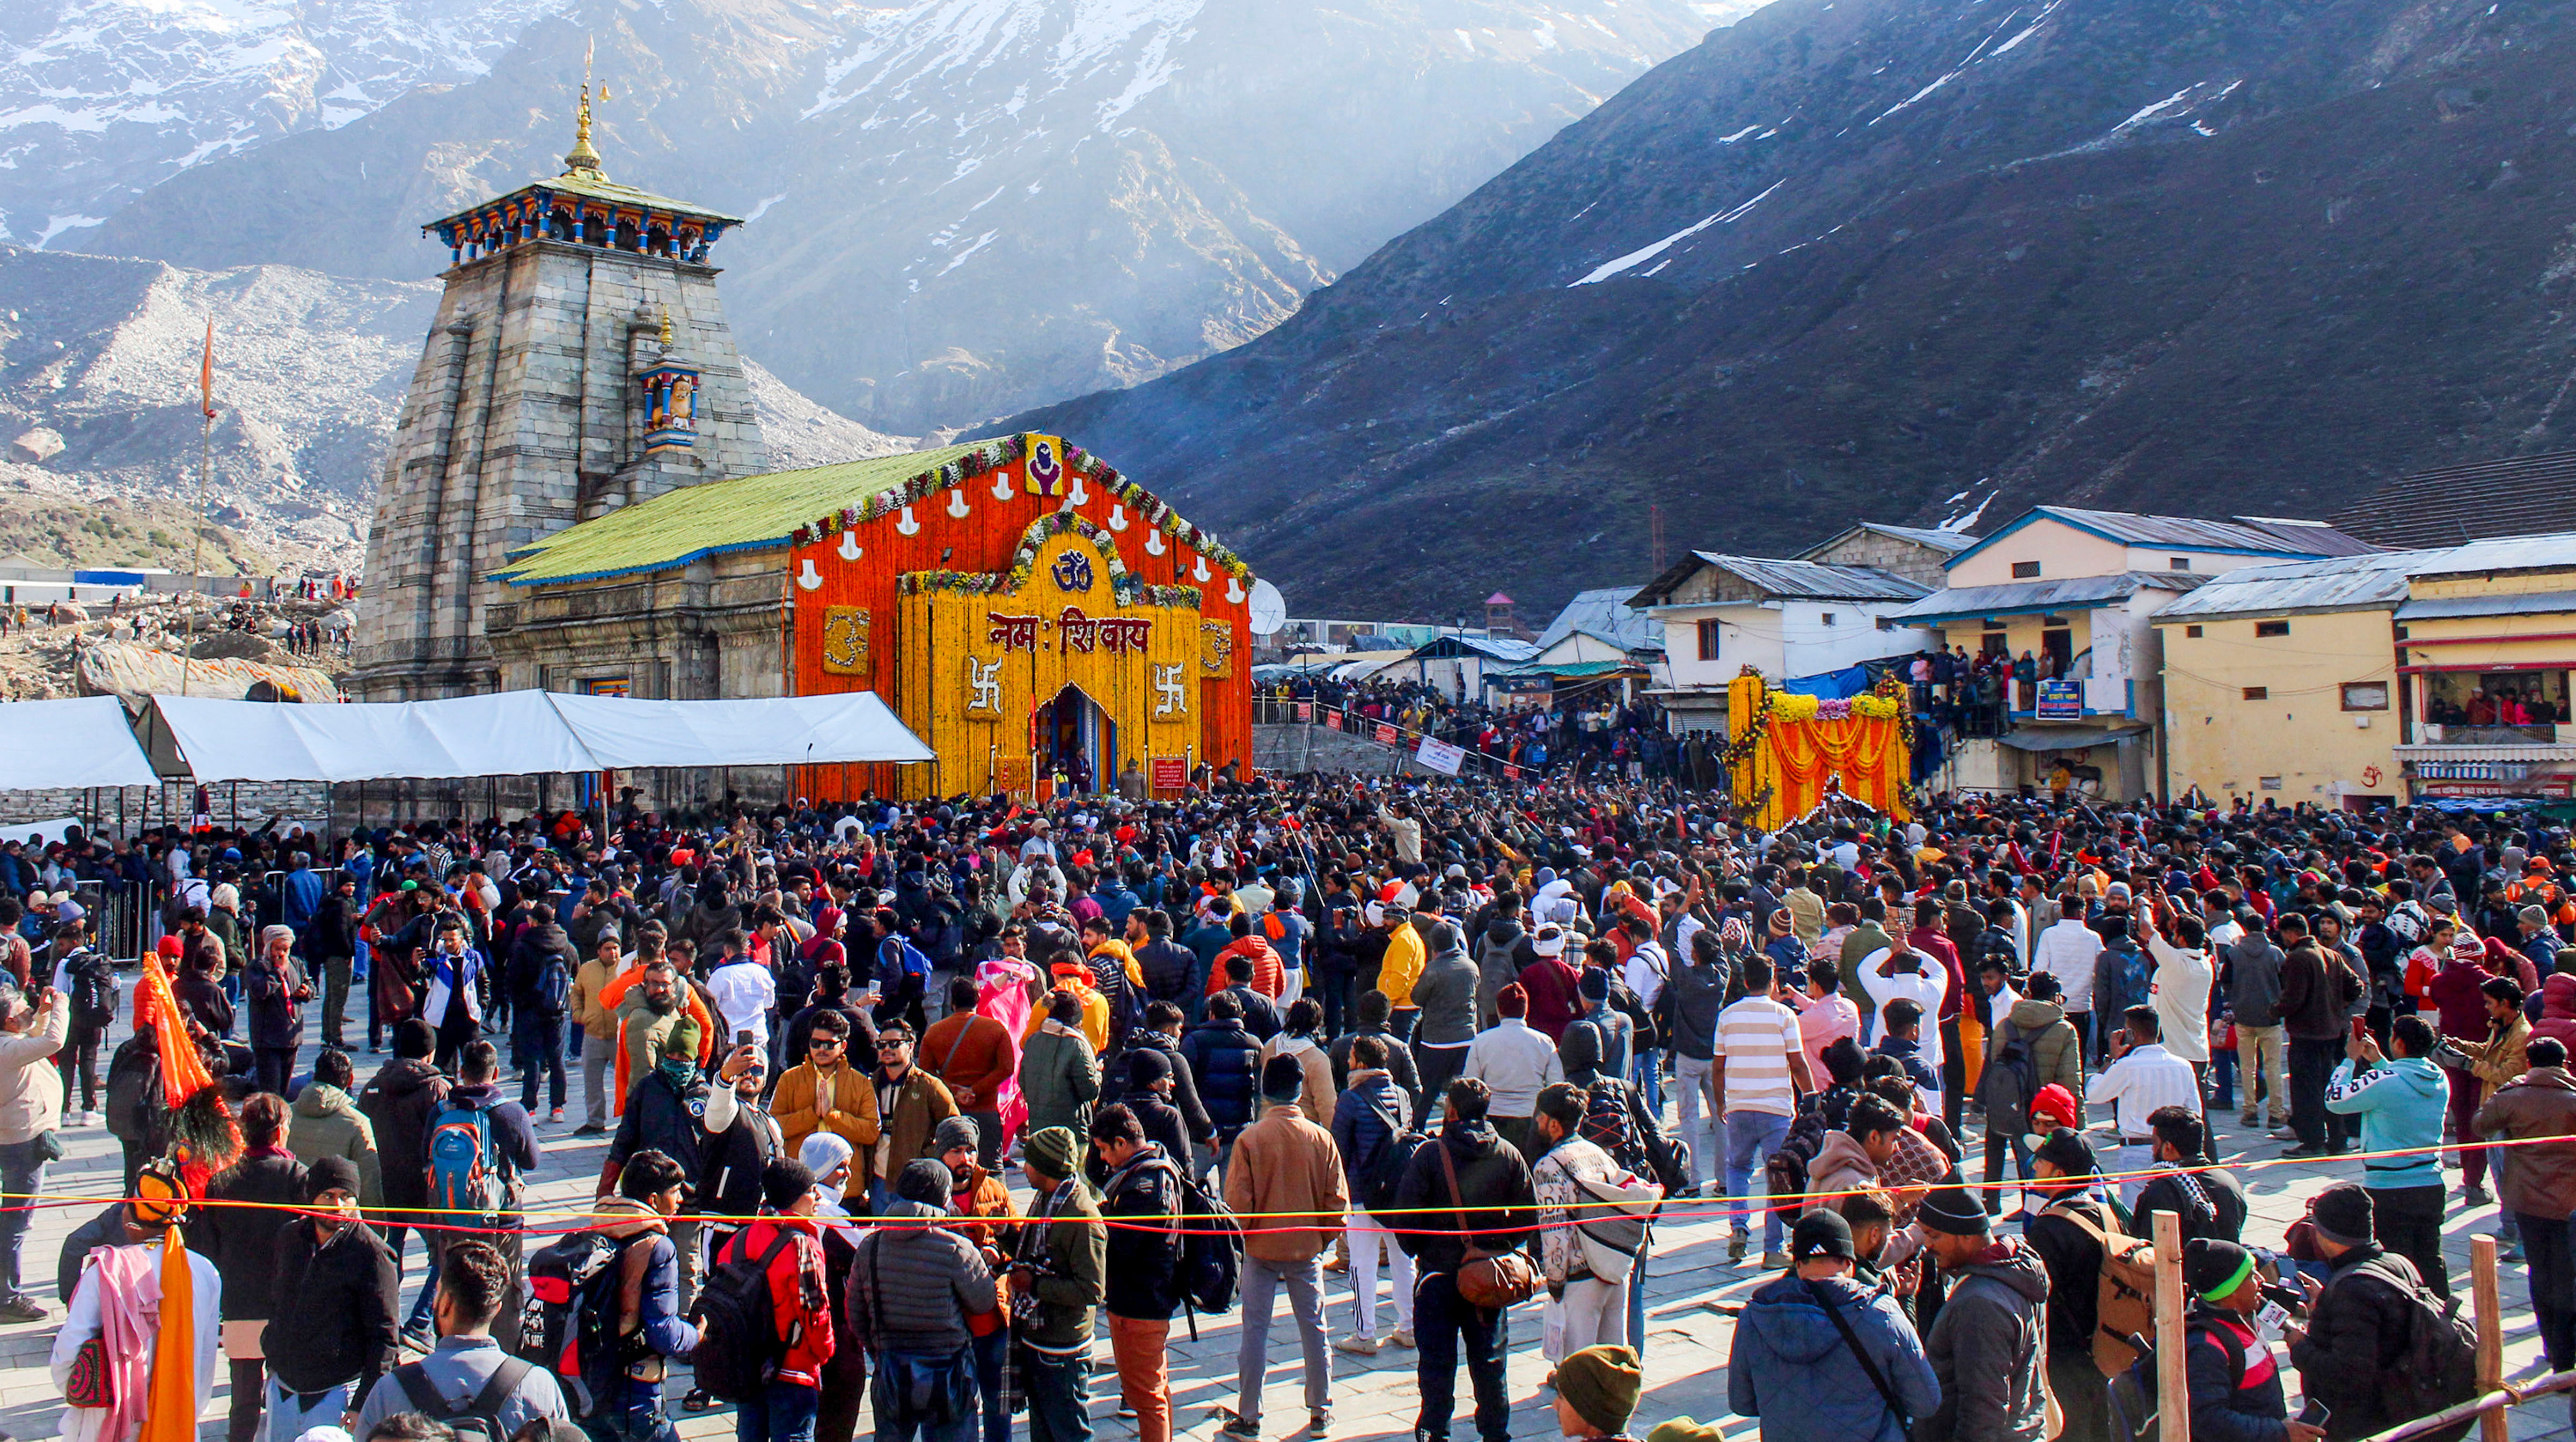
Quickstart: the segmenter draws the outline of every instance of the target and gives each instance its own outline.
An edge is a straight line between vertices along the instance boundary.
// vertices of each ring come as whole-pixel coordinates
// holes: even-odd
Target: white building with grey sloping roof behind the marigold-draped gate
[[[1875,566],[1692,551],[1631,605],[1664,631],[1672,680],[1656,698],[1674,729],[1723,731],[1726,682],[1744,667],[1780,685],[1929,646],[1929,631],[1888,623],[1927,590]]]

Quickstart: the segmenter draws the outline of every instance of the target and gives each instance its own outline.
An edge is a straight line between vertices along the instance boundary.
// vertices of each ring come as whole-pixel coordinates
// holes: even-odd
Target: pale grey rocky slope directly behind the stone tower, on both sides
[[[198,497],[206,569],[348,569],[376,469],[438,306],[428,281],[343,281],[291,265],[0,247],[0,554],[188,569]],[[198,484],[198,355],[216,340],[211,484]],[[770,458],[817,466],[909,443],[752,366]]]

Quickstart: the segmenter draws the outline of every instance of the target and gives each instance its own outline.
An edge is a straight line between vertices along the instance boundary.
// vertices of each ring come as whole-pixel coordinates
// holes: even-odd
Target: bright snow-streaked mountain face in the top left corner
[[[193,165],[471,80],[564,0],[10,0],[0,242],[95,227]]]

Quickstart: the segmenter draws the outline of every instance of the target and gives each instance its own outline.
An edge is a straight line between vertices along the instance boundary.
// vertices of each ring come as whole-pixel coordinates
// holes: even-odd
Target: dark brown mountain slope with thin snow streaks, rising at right
[[[2576,445],[2576,8],[1780,0],[1262,340],[1015,420],[1291,605]],[[1425,577],[1445,590],[1425,592]]]

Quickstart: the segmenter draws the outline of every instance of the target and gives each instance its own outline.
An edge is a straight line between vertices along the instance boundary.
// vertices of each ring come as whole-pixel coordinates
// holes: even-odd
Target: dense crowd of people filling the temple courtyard
[[[2166,1213],[2195,1434],[2460,1401],[2442,1228],[2496,1192],[2576,1365],[2576,845],[2543,824],[1932,798],[1757,834],[1651,783],[1257,778],[322,850],[0,850],[0,1192],[106,1125],[139,1197],[75,1231],[64,1313],[0,1213],[0,1318],[59,1316],[82,1442],[139,1419],[149,1378],[82,1357],[152,1357],[170,1226],[234,1442],[641,1442],[724,1406],[744,1442],[863,1411],[1056,1442],[1095,1372],[1164,1442],[1175,1326],[1236,1311],[1221,1434],[1255,1439],[1288,1432],[1280,1293],[1306,1434],[1337,1357],[1394,1349],[1417,1437],[1504,1442],[1535,1329],[1566,1437],[1708,1442],[1638,1416],[1682,1218],[1728,1233],[1710,1290],[1759,1280],[1726,1388],[1772,1439],[2128,1437]],[[111,1051],[103,1118],[118,973],[62,876],[167,896],[175,1009]],[[160,1027],[237,1097],[222,1166]],[[2226,1120],[2362,1174],[2254,1236]],[[595,1200],[546,1215],[526,1177],[574,1138]]]

